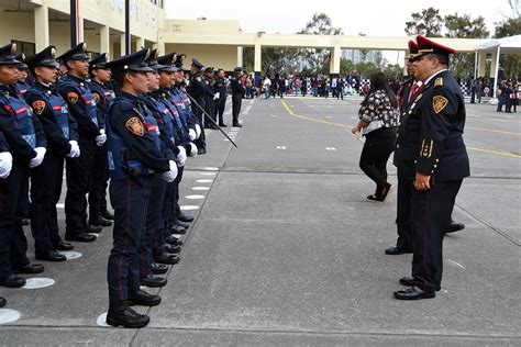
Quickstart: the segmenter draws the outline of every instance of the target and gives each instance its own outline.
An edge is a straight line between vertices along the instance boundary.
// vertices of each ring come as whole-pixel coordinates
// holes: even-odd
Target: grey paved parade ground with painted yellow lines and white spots
[[[149,290],[162,304],[138,307],[146,328],[97,323],[108,309],[104,228],[76,244],[81,257],[45,262],[35,277],[52,286],[0,289],[12,310],[0,316],[20,315],[0,326],[0,345],[521,345],[521,113],[467,104],[472,177],[453,213],[466,228],[445,238],[436,298],[403,302],[392,292],[412,255],[384,254],[396,191],[384,204],[365,199],[375,187],[351,134],[359,101],[243,100],[244,127],[225,128],[239,148],[208,132],[208,154],[188,160],[181,182],[181,209],[197,220],[168,284]]]

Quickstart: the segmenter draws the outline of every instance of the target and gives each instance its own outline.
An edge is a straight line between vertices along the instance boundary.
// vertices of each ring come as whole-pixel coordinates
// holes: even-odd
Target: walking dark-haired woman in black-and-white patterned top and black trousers
[[[384,202],[392,189],[387,181],[387,160],[395,147],[399,120],[398,100],[385,74],[370,76],[370,89],[361,105],[359,122],[351,131],[366,137],[359,166],[376,183],[376,192],[367,199]]]

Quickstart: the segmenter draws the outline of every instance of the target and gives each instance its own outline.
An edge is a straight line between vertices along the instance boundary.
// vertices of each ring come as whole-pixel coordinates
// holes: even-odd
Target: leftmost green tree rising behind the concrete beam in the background
[[[308,35],[342,35],[342,29],[334,27],[331,18],[325,13],[314,13],[306,26],[297,34]],[[306,65],[314,74],[324,74],[331,61],[329,48],[301,48],[299,49]]]

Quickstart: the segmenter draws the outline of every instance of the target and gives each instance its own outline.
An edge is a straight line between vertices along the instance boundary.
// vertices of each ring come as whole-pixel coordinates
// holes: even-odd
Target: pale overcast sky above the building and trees
[[[315,12],[330,15],[334,26],[346,35],[365,33],[374,36],[404,36],[406,21],[412,12],[434,7],[441,14],[468,13],[473,19],[483,15],[494,34],[494,23],[510,14],[508,0],[197,0],[190,3],[165,0],[171,19],[237,20],[246,33],[259,31],[291,34],[301,30]],[[197,7],[195,5],[197,3]],[[190,4],[191,9],[187,5]]]

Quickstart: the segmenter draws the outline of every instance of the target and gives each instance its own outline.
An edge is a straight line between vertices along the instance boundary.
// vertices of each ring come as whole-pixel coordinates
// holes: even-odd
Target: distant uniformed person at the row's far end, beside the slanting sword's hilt
[[[195,104],[192,107],[192,112],[197,116],[197,120],[199,122],[200,126],[200,134],[198,134],[198,137],[193,141],[198,148],[198,154],[206,154],[207,153],[207,139],[204,135],[204,113],[202,110],[206,108],[206,94],[207,94],[207,88],[204,85],[204,80],[202,78],[202,72],[201,69],[204,66],[199,63],[197,59],[191,59],[191,67],[190,67],[190,85],[187,88],[188,94],[196,100],[196,102],[199,104]]]

